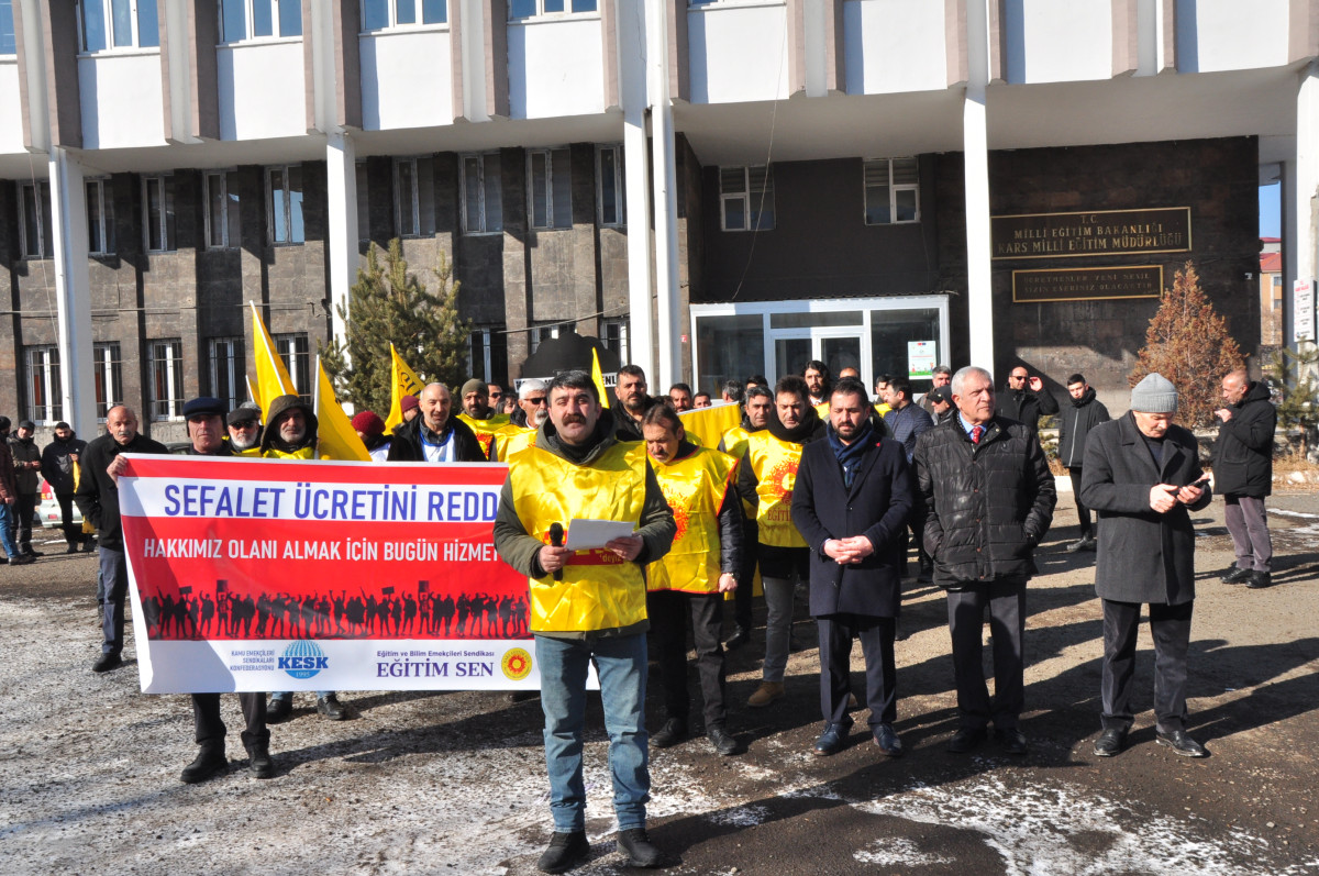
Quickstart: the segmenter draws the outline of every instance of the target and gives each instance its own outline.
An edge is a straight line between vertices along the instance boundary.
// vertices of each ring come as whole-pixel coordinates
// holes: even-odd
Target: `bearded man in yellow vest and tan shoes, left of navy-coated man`
[[[802,447],[824,438],[824,422],[810,405],[806,381],[797,375],[774,385],[769,426],[747,438],[747,459],[737,475],[737,492],[756,507],[760,579],[765,588],[765,662],[762,681],[748,706],[768,706],[783,697],[793,591],[810,575],[810,550],[793,524],[793,483]]]

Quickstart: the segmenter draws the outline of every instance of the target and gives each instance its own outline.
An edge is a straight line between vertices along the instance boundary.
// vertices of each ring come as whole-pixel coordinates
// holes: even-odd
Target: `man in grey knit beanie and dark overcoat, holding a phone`
[[[1103,727],[1095,755],[1126,745],[1141,606],[1154,637],[1157,741],[1204,757],[1186,734],[1186,653],[1195,604],[1191,511],[1210,504],[1195,435],[1173,425],[1177,388],[1162,375],[1132,391],[1132,410],[1100,423],[1086,442],[1082,501],[1099,512],[1095,591],[1104,607]]]

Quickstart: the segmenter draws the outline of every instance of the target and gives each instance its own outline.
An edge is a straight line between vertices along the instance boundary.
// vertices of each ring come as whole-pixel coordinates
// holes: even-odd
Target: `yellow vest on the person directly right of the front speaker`
[[[646,588],[718,594],[719,509],[732,488],[737,460],[699,447],[683,459],[654,468],[660,489],[673,508],[678,534],[669,553],[646,566]]]

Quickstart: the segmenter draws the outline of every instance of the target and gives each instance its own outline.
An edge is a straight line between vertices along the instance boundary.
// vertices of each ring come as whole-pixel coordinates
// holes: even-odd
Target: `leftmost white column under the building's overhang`
[[[96,434],[96,388],[87,269],[87,187],[82,166],[62,146],[50,149],[50,228],[54,235],[61,402],[74,431],[91,437]]]

